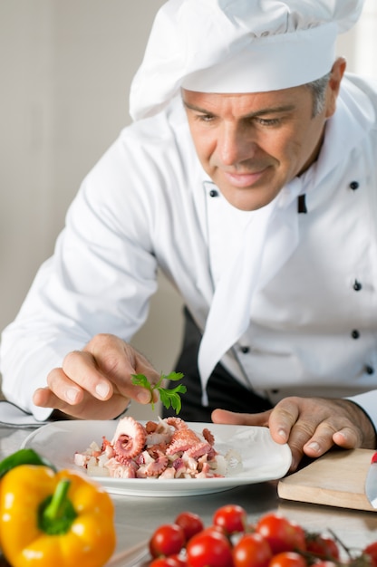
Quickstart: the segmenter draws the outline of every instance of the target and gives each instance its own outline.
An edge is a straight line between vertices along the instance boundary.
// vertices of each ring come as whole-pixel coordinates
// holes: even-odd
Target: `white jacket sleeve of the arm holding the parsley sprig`
[[[141,190],[151,181],[148,168],[140,176],[132,162],[120,138],[85,178],[53,256],[3,332],[5,397],[35,418],[45,419],[51,410],[34,406],[34,389],[46,385],[65,354],[82,349],[98,332],[130,341],[148,316],[157,287],[155,203]]]

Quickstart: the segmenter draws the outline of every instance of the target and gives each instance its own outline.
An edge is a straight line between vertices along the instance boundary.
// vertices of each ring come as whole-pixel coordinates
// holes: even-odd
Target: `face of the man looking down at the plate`
[[[315,117],[313,94],[304,86],[252,94],[182,90],[198,159],[229,203],[264,207],[314,162],[334,111],[328,90]]]

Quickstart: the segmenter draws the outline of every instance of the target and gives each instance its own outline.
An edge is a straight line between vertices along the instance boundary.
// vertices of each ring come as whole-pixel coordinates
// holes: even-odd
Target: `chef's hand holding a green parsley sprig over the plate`
[[[33,401],[73,418],[116,418],[131,399],[150,403],[150,391],[134,386],[132,374],[145,374],[154,383],[160,378],[130,344],[111,334],[98,334],[82,351],[67,354],[62,368],[51,370],[47,387],[35,390]]]

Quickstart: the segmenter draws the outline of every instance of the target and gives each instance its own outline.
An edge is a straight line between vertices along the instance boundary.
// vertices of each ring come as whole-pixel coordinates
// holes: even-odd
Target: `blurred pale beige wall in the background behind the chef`
[[[130,121],[128,91],[163,0],[0,0],[0,329],[52,254],[82,178]],[[377,1],[339,42],[377,76]],[[169,372],[181,303],[160,278],[134,343]],[[133,408],[138,418],[149,410]]]

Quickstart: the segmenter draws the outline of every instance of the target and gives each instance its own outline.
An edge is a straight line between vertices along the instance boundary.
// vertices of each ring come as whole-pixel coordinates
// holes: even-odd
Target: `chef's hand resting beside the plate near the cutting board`
[[[290,397],[279,401],[275,408],[256,414],[215,409],[212,420],[270,428],[277,443],[288,443],[291,448],[291,472],[302,456],[324,455],[334,445],[344,449],[376,448],[372,421],[348,399]]]

